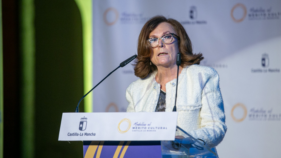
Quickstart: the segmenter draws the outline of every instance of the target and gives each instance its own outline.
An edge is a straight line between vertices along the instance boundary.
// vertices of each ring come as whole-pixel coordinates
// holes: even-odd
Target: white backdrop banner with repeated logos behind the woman
[[[164,15],[182,23],[201,65],[220,75],[228,130],[220,157],[278,157],[281,141],[281,1],[93,1],[93,85],[137,54],[144,23]],[[93,112],[125,112],[137,80],[131,64],[92,92]]]

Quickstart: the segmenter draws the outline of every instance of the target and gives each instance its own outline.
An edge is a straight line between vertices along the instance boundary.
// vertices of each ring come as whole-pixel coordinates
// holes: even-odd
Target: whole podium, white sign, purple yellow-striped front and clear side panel
[[[90,123],[97,118],[106,121]],[[176,119],[177,112],[64,113],[59,141],[83,141],[84,158],[217,157],[215,148],[176,126]]]

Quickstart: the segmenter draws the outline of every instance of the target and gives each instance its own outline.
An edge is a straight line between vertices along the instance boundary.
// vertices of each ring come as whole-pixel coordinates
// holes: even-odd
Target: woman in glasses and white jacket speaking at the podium
[[[140,32],[137,53],[134,71],[140,79],[126,90],[127,112],[170,112],[176,100],[177,126],[207,146],[217,146],[226,132],[219,76],[199,65],[203,56],[192,52],[183,26],[175,19],[152,17]]]

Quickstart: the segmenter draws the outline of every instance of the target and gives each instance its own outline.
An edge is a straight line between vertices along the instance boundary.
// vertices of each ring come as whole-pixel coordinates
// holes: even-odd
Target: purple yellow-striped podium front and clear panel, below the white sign
[[[83,141],[84,158],[217,158],[215,148],[210,149],[192,136],[189,137],[180,127],[176,129],[185,139],[175,141]]]

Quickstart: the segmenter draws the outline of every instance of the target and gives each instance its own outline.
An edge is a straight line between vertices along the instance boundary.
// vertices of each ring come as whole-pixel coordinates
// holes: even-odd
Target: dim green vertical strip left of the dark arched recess
[[[20,6],[20,57],[21,57],[21,155],[34,154],[34,108],[35,108],[35,35],[33,0],[22,0]]]

